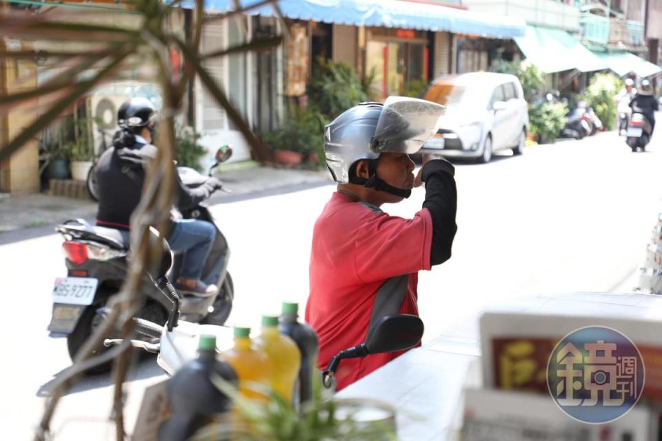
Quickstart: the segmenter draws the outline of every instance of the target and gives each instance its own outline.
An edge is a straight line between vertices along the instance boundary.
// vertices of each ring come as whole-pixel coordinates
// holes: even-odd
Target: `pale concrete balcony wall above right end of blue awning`
[[[463,0],[470,11],[521,17],[532,25],[579,30],[579,8],[554,0]]]

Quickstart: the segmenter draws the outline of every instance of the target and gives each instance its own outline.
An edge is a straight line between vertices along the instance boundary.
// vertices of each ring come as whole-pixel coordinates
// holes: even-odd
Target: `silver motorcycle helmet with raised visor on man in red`
[[[324,130],[324,155],[334,181],[408,197],[410,190],[391,187],[377,176],[376,160],[383,152],[418,152],[436,132],[443,112],[443,105],[405,96],[390,96],[383,104],[361,103],[346,110]],[[350,173],[361,159],[368,160],[368,179]]]

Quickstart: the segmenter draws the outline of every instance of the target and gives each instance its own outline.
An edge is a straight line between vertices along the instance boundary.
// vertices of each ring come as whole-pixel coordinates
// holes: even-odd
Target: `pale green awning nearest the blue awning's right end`
[[[605,60],[585,48],[564,30],[527,25],[524,37],[515,42],[526,59],[548,74],[563,70],[592,72],[608,68]]]

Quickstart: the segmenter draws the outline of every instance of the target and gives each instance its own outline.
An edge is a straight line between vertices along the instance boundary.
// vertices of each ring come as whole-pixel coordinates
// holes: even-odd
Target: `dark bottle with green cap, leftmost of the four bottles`
[[[210,380],[218,375],[237,384],[237,373],[228,363],[217,359],[216,336],[200,336],[198,358],[183,365],[168,380],[170,418],[159,428],[159,441],[183,441],[230,410],[232,402]]]

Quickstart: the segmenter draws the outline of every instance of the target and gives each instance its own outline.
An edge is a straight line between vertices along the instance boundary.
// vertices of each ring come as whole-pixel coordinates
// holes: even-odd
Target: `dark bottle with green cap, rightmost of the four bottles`
[[[319,342],[317,333],[312,327],[297,321],[299,317],[299,304],[283,302],[283,315],[281,316],[281,333],[292,338],[301,352],[301,369],[299,369],[299,396],[295,397],[296,404],[303,404],[312,400],[314,384],[320,378],[317,369],[317,353]]]

